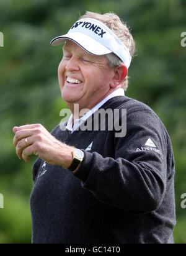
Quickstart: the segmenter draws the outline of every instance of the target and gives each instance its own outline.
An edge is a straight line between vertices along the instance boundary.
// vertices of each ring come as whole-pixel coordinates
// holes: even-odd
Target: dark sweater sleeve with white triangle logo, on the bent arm
[[[97,199],[136,214],[159,208],[166,192],[167,136],[153,111],[128,114],[126,136],[115,138],[115,157],[83,151],[74,176]]]

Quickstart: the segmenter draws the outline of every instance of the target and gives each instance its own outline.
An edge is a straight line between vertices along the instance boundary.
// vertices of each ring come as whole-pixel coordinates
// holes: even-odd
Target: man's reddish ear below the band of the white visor
[[[114,71],[114,76],[112,78],[112,82],[110,83],[110,87],[115,88],[118,85],[121,85],[123,80],[126,78],[128,70],[125,65],[117,66]]]

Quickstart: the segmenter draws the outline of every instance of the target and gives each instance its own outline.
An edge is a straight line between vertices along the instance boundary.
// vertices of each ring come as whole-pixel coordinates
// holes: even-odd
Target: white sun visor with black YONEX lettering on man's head
[[[115,53],[127,68],[131,63],[131,55],[124,43],[104,23],[96,19],[80,19],[69,30],[68,34],[55,37],[51,45],[60,45],[72,40],[86,52],[94,55]]]

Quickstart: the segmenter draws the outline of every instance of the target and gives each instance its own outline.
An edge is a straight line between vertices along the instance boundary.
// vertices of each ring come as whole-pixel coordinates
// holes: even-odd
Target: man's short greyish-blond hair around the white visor
[[[120,17],[117,16],[117,14],[114,14],[113,12],[107,12],[105,14],[99,14],[95,12],[89,12],[87,11],[86,14],[81,16],[81,19],[97,19],[98,21],[104,23],[111,29],[115,35],[128,47],[128,50],[130,52],[131,58],[135,54],[136,45],[135,40],[133,39],[133,36],[130,34],[130,29],[128,26],[120,19]],[[108,65],[110,67],[113,66],[120,66],[123,64],[122,60],[120,60],[117,55],[114,53],[109,53],[105,55],[108,59]],[[125,80],[123,80],[122,87],[123,89],[128,88],[128,76],[126,76]]]

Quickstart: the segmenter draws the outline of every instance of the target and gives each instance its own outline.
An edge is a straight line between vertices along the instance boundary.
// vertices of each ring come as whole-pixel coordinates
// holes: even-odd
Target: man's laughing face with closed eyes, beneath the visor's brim
[[[58,67],[58,80],[64,101],[91,109],[109,94],[114,71],[104,55],[92,55],[67,40]]]

